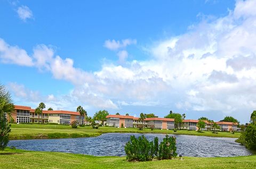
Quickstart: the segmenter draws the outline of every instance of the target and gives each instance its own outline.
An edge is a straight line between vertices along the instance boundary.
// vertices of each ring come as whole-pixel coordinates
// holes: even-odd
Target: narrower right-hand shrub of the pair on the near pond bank
[[[177,156],[176,138],[169,137],[167,134],[159,145],[157,159],[172,159]]]

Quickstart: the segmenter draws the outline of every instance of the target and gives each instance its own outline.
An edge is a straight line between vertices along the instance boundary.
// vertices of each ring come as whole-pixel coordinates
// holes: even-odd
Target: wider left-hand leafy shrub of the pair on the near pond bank
[[[148,161],[154,157],[154,143],[149,142],[145,136],[140,136],[138,139],[135,136],[130,137],[130,141],[124,147],[126,159]]]

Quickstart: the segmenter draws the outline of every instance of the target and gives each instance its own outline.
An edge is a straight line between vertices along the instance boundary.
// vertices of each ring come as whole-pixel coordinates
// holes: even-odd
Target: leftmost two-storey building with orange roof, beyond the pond
[[[69,125],[73,121],[83,123],[79,112],[72,111],[43,111],[42,114],[35,113],[35,109],[28,106],[14,106],[11,116],[15,123],[58,123]],[[84,121],[85,123],[85,121]]]

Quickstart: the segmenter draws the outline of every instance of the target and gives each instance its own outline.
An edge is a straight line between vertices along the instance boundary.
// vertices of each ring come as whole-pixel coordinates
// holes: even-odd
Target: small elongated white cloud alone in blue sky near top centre
[[[104,43],[104,47],[108,48],[109,50],[118,50],[120,48],[124,48],[126,46],[137,44],[136,39],[123,39],[121,42],[119,40],[106,40]]]

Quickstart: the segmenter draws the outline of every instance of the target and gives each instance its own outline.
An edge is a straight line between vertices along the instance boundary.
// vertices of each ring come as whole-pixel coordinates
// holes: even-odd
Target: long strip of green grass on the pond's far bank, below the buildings
[[[113,128],[102,126],[99,129],[92,129],[90,126],[71,128],[68,125],[49,125],[49,124],[12,124],[10,139],[41,139],[41,138],[77,138],[77,137],[95,137],[102,133],[166,133],[166,134],[188,134],[195,136],[209,137],[230,137],[238,138],[240,133],[232,134],[230,132],[219,132],[214,134],[210,131],[202,133],[197,131],[178,130],[150,130],[137,128]]]

